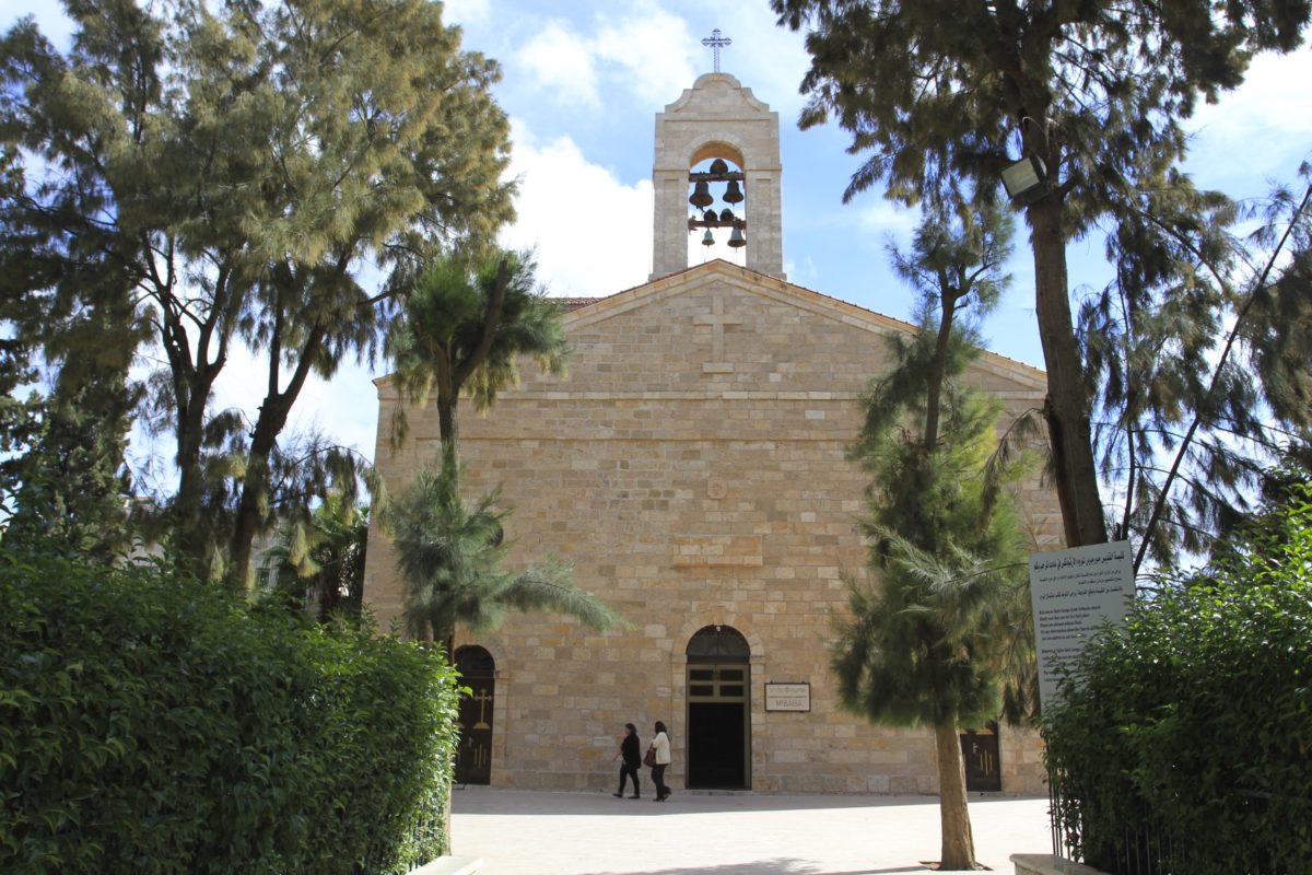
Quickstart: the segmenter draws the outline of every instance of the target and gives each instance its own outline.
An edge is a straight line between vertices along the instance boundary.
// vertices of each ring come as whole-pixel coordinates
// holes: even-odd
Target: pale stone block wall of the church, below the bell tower
[[[497,664],[492,782],[609,787],[626,722],[674,744],[682,786],[685,648],[711,624],[750,644],[750,786],[782,792],[925,794],[928,731],[870,727],[838,710],[827,645],[845,577],[863,579],[857,525],[867,479],[845,458],[858,397],[907,327],[782,281],[712,262],[571,314],[563,378],[525,375],[488,417],[462,408],[470,495],[501,485],[516,563],[555,554],[632,623],[596,634],[517,615],[462,636]],[[977,384],[1013,411],[1042,401],[1042,374],[997,357]],[[379,421],[398,399],[380,382]],[[437,425],[411,411],[398,489],[436,455]],[[1027,519],[1056,544],[1055,500],[1026,485]],[[371,533],[373,534],[373,533]],[[390,550],[371,538],[366,598],[383,627],[400,610]],[[811,711],[766,712],[766,682],[810,682]],[[1002,729],[1004,790],[1042,790],[1038,743]]]

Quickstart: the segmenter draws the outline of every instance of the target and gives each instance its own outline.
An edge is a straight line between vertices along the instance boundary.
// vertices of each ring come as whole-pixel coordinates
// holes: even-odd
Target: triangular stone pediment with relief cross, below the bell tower
[[[575,352],[563,375],[526,363],[500,397],[686,396],[855,399],[890,366],[887,338],[916,327],[803,286],[715,260],[562,317]],[[968,382],[1038,403],[1043,371],[984,352]],[[390,395],[391,380],[378,380]]]

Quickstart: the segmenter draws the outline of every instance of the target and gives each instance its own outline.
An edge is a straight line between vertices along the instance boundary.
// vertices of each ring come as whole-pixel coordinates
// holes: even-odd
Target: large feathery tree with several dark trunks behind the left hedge
[[[0,43],[0,139],[41,157],[4,203],[0,277],[21,332],[122,314],[100,342],[163,362],[147,412],[176,439],[173,544],[240,588],[306,380],[373,356],[416,265],[510,218],[500,71],[424,0],[70,14],[67,55],[30,20]],[[252,421],[214,409],[239,348],[264,367]]]

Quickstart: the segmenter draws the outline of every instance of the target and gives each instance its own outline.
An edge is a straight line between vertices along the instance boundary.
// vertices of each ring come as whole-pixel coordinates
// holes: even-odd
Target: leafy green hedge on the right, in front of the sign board
[[[1106,871],[1312,867],[1309,576],[1298,502],[1085,649],[1043,732],[1076,855]]]

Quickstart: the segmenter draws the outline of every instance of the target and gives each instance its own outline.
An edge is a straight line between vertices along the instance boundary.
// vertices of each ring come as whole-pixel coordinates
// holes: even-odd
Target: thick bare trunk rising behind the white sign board
[[[1035,311],[1048,371],[1043,416],[1052,445],[1065,542],[1067,547],[1101,544],[1107,540],[1107,527],[1093,459],[1092,401],[1071,319],[1061,201],[1056,194],[1030,207],[1030,226],[1034,234]]]

